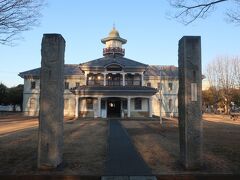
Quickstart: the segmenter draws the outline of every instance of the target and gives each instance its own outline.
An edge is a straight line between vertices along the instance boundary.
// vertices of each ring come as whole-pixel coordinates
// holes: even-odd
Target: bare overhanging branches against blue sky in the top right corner
[[[217,5],[224,2],[232,5],[231,8],[226,8],[228,20],[240,24],[240,0],[169,0],[170,5],[177,9],[173,17],[185,25],[198,18],[206,18]]]

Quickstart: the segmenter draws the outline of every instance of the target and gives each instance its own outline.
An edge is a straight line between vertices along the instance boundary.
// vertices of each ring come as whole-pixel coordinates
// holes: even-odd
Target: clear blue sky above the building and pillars
[[[224,4],[205,20],[185,26],[167,18],[167,0],[49,0],[41,25],[22,33],[14,47],[0,45],[0,82],[23,83],[19,72],[40,67],[44,33],[60,33],[66,40],[65,63],[79,64],[102,57],[101,39],[113,24],[127,58],[150,65],[178,65],[178,41],[184,35],[202,38],[202,66],[219,55],[240,55],[240,26],[224,21]]]

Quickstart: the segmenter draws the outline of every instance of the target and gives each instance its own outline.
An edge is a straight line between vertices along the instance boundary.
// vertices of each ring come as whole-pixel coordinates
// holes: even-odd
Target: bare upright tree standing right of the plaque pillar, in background
[[[214,91],[215,99],[222,100],[227,114],[232,100],[232,90],[239,87],[239,63],[238,57],[219,56],[207,66],[210,87]]]

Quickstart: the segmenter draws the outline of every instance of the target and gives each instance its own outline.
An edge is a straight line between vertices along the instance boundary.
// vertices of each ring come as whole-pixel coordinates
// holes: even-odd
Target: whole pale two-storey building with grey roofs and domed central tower
[[[103,57],[81,64],[65,64],[64,115],[75,117],[178,116],[178,69],[147,65],[124,57],[127,40],[113,28]],[[23,110],[38,115],[40,68],[21,72]]]

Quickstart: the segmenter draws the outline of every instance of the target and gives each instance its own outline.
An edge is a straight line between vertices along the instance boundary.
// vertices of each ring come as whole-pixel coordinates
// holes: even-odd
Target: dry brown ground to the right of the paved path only
[[[177,119],[158,121],[122,121],[135,147],[152,173],[159,174],[239,174],[240,121],[227,116],[203,116],[203,167],[187,172],[179,162]]]

